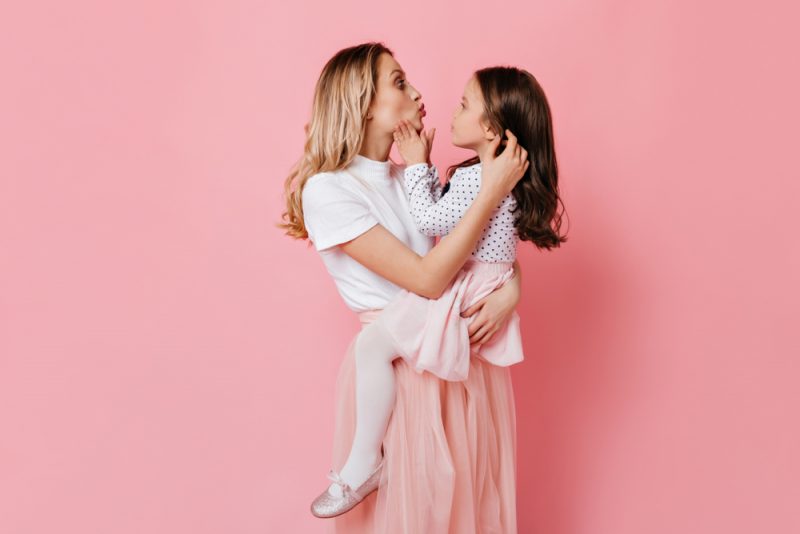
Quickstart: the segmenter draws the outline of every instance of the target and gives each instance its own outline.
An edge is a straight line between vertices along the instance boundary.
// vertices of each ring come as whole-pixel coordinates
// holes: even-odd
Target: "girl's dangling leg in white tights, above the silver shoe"
[[[339,475],[350,487],[360,486],[381,460],[381,443],[395,401],[392,361],[397,352],[377,322],[365,326],[355,342],[356,430],[350,454]],[[329,491],[341,496],[338,484]]]

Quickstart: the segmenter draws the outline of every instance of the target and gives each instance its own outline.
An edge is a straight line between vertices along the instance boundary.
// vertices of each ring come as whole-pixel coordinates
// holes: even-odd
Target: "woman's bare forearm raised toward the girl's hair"
[[[489,217],[496,209],[497,206],[492,199],[478,194],[453,231],[421,258],[428,293],[440,295],[450,284],[475,250]]]

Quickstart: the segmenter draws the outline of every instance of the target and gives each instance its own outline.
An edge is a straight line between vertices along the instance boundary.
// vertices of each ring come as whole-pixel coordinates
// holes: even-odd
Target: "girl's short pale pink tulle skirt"
[[[470,345],[468,327],[475,315],[461,312],[505,284],[514,275],[512,262],[470,259],[437,299],[401,290],[376,319],[411,368],[445,380],[464,380],[472,351],[489,363],[508,366],[524,359],[519,315],[514,311],[489,343]]]

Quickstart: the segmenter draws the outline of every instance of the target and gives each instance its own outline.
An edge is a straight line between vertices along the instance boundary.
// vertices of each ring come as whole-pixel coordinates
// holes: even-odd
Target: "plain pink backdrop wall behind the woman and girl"
[[[320,69],[373,39],[440,165],[474,69],[553,107],[570,241],[520,249],[520,532],[800,531],[783,4],[4,7],[0,532],[324,530],[358,323],[273,224]]]

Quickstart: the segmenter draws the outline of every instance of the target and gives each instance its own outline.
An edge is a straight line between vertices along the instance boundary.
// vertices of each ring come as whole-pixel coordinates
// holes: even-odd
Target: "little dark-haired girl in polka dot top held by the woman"
[[[558,173],[544,92],[525,70],[492,67],[475,72],[451,130],[453,144],[474,150],[476,156],[451,167],[444,188],[430,165],[433,132],[420,136],[401,122],[394,138],[407,165],[404,186],[418,229],[447,239],[480,189],[484,150],[493,148],[497,132],[506,128],[517,135],[520,147],[530,149],[527,154],[522,149],[526,174],[497,207],[472,257],[436,299],[401,290],[356,339],[355,436],[341,472],[328,474],[334,484],[311,504],[317,517],[343,514],[378,487],[381,443],[395,399],[396,358],[404,358],[418,373],[428,371],[444,380],[465,380],[471,354],[499,366],[524,358],[516,312],[487,343],[476,346],[470,345],[468,332],[474,316],[463,318],[461,313],[514,276],[519,240],[546,249],[566,241],[558,233]]]

